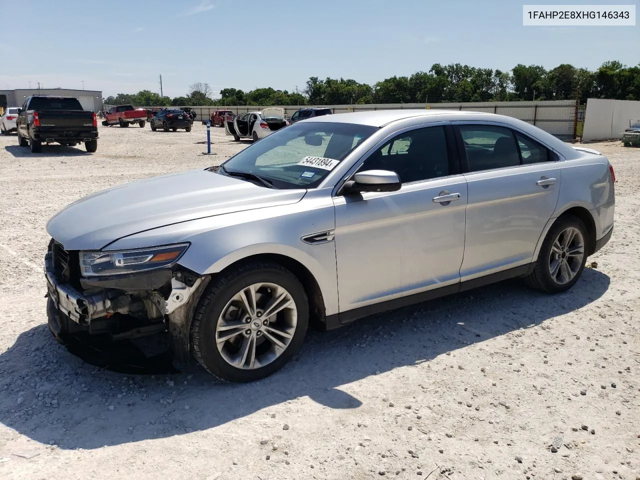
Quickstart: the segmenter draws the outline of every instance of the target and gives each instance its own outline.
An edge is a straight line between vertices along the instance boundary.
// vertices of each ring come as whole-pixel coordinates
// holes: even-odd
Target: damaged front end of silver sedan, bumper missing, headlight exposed
[[[67,251],[51,240],[45,256],[49,328],[61,342],[88,333],[111,340],[168,332],[179,364],[209,276],[176,262],[188,244],[125,252]]]

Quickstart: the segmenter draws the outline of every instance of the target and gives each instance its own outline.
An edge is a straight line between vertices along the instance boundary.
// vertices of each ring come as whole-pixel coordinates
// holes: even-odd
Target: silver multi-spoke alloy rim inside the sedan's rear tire
[[[578,228],[562,230],[551,245],[549,273],[559,285],[568,284],[577,275],[584,259],[584,237]]]

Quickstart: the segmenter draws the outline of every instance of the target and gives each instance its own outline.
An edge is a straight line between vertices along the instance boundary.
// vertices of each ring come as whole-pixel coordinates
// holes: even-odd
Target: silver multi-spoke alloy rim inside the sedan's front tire
[[[216,346],[225,362],[258,369],[287,349],[298,324],[291,294],[273,283],[252,284],[232,296],[216,325]]]

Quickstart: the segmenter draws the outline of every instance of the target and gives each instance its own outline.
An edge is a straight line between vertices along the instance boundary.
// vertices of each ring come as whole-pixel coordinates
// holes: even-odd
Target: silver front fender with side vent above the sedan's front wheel
[[[238,260],[261,254],[284,255],[314,276],[326,315],[338,312],[333,240],[310,244],[302,237],[335,229],[330,189],[310,191],[296,204],[228,213],[154,228],[109,244],[109,250],[189,242],[179,261],[200,275],[219,272]]]

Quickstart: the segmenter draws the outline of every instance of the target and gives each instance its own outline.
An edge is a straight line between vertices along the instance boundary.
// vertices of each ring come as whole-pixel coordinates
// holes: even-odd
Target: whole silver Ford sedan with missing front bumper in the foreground
[[[168,332],[228,381],[337,328],[506,278],[577,282],[611,237],[609,161],[506,116],[438,110],[297,122],[219,167],[78,200],[47,224],[49,326]],[[166,333],[165,333],[166,334]]]

